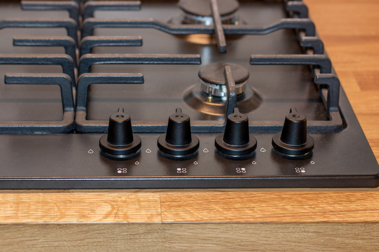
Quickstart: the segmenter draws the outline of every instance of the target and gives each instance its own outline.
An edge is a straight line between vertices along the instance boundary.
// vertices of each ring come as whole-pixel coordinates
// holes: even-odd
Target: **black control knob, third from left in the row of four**
[[[224,133],[216,137],[214,145],[233,156],[247,155],[257,148],[257,139],[249,134],[249,119],[238,108],[228,116]]]

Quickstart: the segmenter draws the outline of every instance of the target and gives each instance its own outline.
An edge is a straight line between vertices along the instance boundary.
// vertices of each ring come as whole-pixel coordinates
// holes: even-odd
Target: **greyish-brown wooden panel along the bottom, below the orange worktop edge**
[[[379,223],[17,224],[0,225],[0,250],[374,252],[378,236]]]

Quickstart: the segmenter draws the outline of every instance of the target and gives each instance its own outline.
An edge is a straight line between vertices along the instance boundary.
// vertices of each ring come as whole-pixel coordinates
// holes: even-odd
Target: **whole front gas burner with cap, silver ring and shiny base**
[[[227,65],[232,69],[236,84],[237,107],[242,113],[258,108],[260,96],[246,85],[249,71],[235,63],[211,63],[202,67],[199,70],[200,85],[192,85],[184,93],[184,100],[189,107],[210,115],[225,115],[227,91],[224,68]]]

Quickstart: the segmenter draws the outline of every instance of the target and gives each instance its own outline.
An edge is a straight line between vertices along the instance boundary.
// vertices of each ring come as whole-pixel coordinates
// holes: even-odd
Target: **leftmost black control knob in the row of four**
[[[108,134],[100,138],[99,146],[113,157],[133,154],[141,147],[141,139],[133,134],[130,116],[122,108],[109,117]]]

